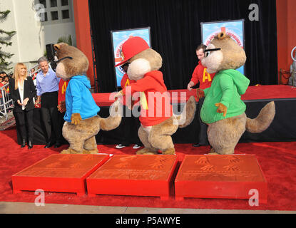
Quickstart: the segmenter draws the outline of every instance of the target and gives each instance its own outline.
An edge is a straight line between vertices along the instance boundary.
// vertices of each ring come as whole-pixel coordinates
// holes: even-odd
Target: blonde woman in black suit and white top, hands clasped
[[[34,134],[34,102],[36,89],[31,77],[27,76],[27,68],[24,63],[17,63],[14,67],[14,76],[9,81],[9,91],[14,100],[14,115],[16,117],[16,127],[19,128],[21,135],[21,148],[26,146],[33,147]],[[27,120],[27,129],[26,122]],[[28,141],[27,141],[28,140]]]

